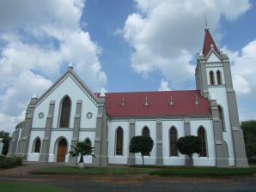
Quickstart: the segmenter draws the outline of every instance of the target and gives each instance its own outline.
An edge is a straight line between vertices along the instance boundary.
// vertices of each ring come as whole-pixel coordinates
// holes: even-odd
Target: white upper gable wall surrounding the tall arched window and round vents
[[[65,96],[68,96],[71,100],[70,128],[73,127],[73,117],[76,115],[76,102],[82,101],[82,117],[86,117],[88,112],[92,112],[94,117],[96,117],[98,99],[76,74],[68,71],[38,99],[34,109],[33,128],[44,128],[46,126],[46,117],[52,100],[55,101],[52,127],[57,128],[59,111]],[[41,118],[40,114],[43,114]],[[93,119],[85,123],[84,118],[82,118],[81,126],[94,127],[95,122]]]

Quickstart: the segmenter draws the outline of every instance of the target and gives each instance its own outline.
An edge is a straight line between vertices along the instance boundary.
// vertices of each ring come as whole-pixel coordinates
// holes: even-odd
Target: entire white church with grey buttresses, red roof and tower
[[[27,161],[76,163],[69,154],[76,141],[94,147],[93,165],[140,165],[129,153],[131,137],[149,135],[154,147],[147,165],[186,165],[177,140],[198,135],[197,166],[247,166],[229,57],[205,29],[203,54],[197,55],[196,90],[93,93],[72,66],[40,98],[31,98],[17,124],[9,156]]]

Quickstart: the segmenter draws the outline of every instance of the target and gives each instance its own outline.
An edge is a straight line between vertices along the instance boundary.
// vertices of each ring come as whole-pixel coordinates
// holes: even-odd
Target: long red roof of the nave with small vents
[[[99,94],[97,94],[99,96]],[[208,116],[210,103],[198,90],[106,93],[110,117]],[[145,106],[146,97],[149,106]],[[170,98],[174,105],[169,105]],[[124,99],[123,99],[124,98]],[[198,98],[199,105],[195,105]],[[122,100],[125,105],[122,106]]]

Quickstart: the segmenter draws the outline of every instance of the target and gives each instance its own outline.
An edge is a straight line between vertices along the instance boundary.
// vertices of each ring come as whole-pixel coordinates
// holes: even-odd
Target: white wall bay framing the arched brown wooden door
[[[65,156],[65,162],[69,162],[69,151],[70,144],[72,139],[72,131],[52,131],[51,141],[50,141],[50,150],[49,150],[49,162],[57,161],[57,153],[58,153],[58,139],[65,138],[67,141],[67,153]]]

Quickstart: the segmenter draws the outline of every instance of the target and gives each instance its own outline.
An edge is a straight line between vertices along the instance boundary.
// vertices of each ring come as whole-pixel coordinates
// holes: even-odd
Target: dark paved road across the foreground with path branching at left
[[[256,177],[153,177],[147,175],[129,176],[82,176],[82,175],[31,175],[30,171],[62,164],[28,164],[0,171],[0,183],[6,181],[44,183],[63,187],[70,191],[256,191]]]

